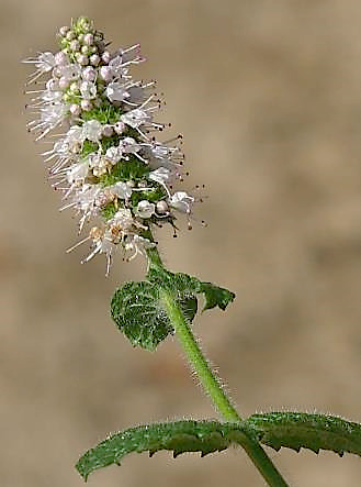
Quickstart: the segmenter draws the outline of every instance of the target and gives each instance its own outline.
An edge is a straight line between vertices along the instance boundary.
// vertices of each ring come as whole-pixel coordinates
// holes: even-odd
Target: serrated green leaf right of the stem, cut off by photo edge
[[[341,418],[304,412],[269,412],[252,414],[244,422],[261,443],[280,450],[296,452],[308,449],[315,453],[330,450],[340,456],[354,453],[361,456],[361,424]]]

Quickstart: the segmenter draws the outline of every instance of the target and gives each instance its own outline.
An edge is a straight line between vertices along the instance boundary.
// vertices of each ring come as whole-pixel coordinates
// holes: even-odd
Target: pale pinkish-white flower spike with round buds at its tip
[[[36,68],[27,85],[49,76],[40,89],[27,91],[34,96],[27,108],[36,113],[29,130],[36,141],[54,137],[43,155],[52,164],[52,186],[63,192],[61,209],[72,208],[80,217],[79,232],[97,219],[69,251],[90,242],[82,262],[105,254],[108,275],[119,245],[131,253],[128,259],[145,254],[156,246],[151,225],[168,222],[176,229],[174,211],[190,221],[194,198],[172,192],[172,184],[182,180],[181,136],[166,142],[155,136],[166,126],[154,121],[161,106],[155,81],[129,74],[144,60],[139,45],[111,53],[103,34],[83,16],[61,27],[58,41],[56,54],[25,59]]]

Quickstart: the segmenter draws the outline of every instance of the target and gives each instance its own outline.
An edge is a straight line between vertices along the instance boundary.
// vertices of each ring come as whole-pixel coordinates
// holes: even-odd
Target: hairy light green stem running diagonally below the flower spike
[[[148,257],[151,267],[159,270],[163,269],[161,258],[156,248],[148,251]],[[214,406],[226,421],[240,422],[240,416],[232,405],[219,380],[212,372],[173,294],[169,289],[162,288],[160,290],[160,298],[174,326],[184,354],[198,374],[204,390],[211,397]],[[256,440],[246,433],[239,432],[237,433],[237,441],[245,449],[249,458],[270,487],[287,487],[287,484],[273,465],[271,458]]]

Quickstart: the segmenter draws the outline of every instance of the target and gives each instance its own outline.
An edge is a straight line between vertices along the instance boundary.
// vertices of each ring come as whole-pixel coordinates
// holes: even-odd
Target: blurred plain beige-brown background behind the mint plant
[[[207,229],[159,240],[173,269],[229,287],[225,314],[198,319],[244,414],[324,411],[361,420],[361,7],[356,0],[49,2],[1,0],[0,485],[77,487],[74,463],[108,432],[216,417],[179,347],[133,350],[109,318],[144,263],[80,266],[25,131],[19,64],[55,49],[86,13],[119,45],[140,42],[139,76],[166,93],[205,184]],[[84,250],[83,250],[84,251]],[[361,461],[271,452],[292,486],[360,486]],[[93,487],[261,486],[239,451],[200,460],[133,455]]]

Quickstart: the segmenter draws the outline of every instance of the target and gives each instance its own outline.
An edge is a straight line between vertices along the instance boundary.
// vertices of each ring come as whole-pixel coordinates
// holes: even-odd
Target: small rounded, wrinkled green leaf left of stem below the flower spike
[[[154,351],[173,331],[160,306],[157,287],[147,281],[127,283],[117,289],[111,313],[134,346]]]

